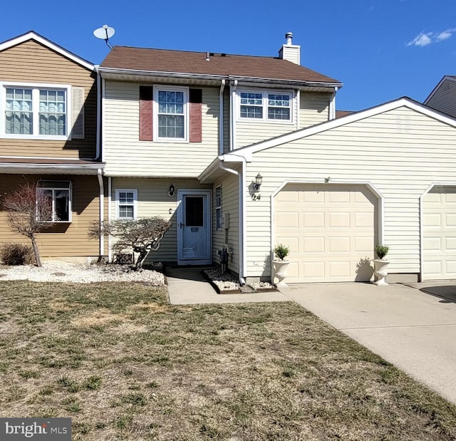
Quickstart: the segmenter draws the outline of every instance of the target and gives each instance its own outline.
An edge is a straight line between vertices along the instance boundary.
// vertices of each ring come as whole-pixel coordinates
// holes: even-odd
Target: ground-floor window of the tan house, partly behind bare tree
[[[46,219],[48,222],[71,222],[71,181],[40,180],[36,191],[51,202],[52,214]]]

